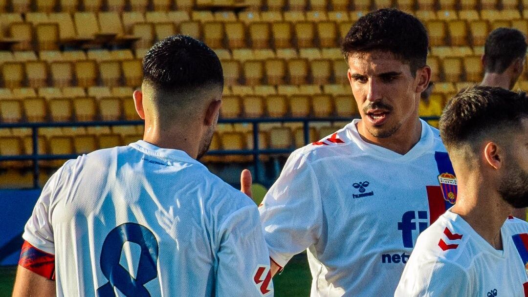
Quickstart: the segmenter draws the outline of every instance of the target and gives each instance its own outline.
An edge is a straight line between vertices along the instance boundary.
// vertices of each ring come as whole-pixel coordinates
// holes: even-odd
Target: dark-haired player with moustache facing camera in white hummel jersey
[[[360,18],[343,52],[361,119],[296,150],[259,207],[272,270],[307,249],[312,296],[393,295],[414,239],[455,202],[439,132],[418,118],[427,50],[411,15]]]

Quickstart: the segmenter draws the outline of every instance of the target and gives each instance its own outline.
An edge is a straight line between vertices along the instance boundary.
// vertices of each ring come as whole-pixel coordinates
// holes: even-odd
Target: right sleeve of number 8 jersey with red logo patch
[[[256,205],[231,214],[220,228],[216,296],[272,296],[269,254]]]

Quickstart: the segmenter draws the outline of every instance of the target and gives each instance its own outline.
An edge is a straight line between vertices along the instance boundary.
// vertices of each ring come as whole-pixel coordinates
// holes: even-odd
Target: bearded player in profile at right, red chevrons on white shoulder
[[[419,237],[395,296],[528,296],[528,97],[473,87],[440,133],[458,179],[455,206]]]

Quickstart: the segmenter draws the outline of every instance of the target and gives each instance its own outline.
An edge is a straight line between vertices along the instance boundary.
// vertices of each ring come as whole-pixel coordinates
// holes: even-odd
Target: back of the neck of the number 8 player
[[[193,129],[178,128],[163,128],[157,123],[145,123],[143,140],[159,148],[182,150],[191,158],[196,159],[199,139],[188,132],[193,131]]]

